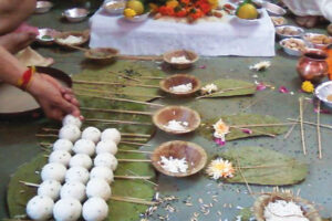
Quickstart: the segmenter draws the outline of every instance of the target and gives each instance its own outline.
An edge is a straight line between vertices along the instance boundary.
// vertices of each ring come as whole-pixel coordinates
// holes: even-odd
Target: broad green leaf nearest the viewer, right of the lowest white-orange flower
[[[295,185],[305,179],[308,166],[294,158],[262,147],[241,147],[220,155],[230,160],[235,167],[240,167],[235,177],[225,181],[232,183]],[[243,179],[246,178],[246,180]]]

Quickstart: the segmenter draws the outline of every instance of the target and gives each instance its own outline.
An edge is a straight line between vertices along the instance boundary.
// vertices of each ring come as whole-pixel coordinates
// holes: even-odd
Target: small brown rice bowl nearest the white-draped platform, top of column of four
[[[172,62],[172,57],[179,57],[179,56],[185,56],[187,60],[190,62],[188,63],[175,63]],[[190,67],[195,62],[198,60],[198,54],[193,52],[193,51],[187,51],[187,50],[176,50],[176,51],[170,51],[166,52],[163,55],[164,62],[173,66],[174,69],[178,70],[184,70]]]

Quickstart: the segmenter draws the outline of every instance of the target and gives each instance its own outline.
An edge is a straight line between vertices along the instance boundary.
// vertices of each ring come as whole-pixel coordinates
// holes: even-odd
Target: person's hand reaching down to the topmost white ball
[[[68,114],[81,117],[80,104],[72,90],[63,87],[49,75],[35,73],[27,91],[37,99],[49,118],[61,120]]]

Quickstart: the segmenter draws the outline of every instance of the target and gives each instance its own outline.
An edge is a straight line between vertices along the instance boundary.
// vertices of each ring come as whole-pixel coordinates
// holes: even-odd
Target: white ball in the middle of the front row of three
[[[73,198],[59,200],[53,208],[53,217],[56,221],[75,221],[82,213],[82,204]]]

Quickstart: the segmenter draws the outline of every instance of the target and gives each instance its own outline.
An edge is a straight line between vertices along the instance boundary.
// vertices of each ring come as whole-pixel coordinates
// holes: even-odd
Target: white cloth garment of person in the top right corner
[[[297,15],[323,15],[332,22],[332,0],[282,0]]]

